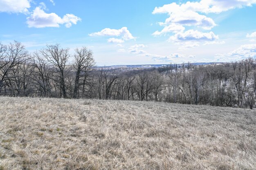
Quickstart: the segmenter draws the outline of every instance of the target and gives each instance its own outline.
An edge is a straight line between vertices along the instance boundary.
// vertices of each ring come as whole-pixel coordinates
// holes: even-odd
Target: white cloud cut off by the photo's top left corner
[[[30,0],[0,0],[0,12],[28,13]]]

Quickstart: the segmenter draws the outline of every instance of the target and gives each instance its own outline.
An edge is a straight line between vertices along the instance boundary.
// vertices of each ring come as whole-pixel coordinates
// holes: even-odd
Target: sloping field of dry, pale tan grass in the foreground
[[[256,111],[0,97],[0,170],[255,170]]]

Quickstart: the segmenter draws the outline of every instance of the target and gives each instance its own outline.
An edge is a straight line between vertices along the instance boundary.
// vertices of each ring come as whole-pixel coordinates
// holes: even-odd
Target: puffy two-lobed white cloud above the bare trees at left
[[[59,27],[59,24],[65,24],[67,28],[81,21],[81,18],[74,14],[66,14],[63,18],[56,13],[45,13],[42,5],[36,7],[30,17],[27,17],[29,27],[44,28],[44,27]]]

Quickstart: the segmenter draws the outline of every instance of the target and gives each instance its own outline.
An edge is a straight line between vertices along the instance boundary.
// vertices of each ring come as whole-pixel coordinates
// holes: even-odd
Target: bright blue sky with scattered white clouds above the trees
[[[88,47],[98,66],[256,58],[256,0],[0,0],[0,42]]]

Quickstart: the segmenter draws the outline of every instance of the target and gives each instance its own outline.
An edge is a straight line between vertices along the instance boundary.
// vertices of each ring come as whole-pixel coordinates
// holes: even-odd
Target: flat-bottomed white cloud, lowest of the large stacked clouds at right
[[[215,35],[213,32],[209,33],[202,33],[197,30],[188,30],[186,32],[180,32],[176,33],[175,35],[171,36],[169,38],[169,41],[213,41],[213,40],[218,40],[218,35]]]

